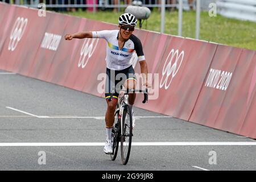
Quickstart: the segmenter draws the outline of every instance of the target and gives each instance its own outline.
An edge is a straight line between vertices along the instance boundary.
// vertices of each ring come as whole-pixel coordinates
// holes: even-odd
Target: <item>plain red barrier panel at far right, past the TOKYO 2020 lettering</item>
[[[255,51],[243,49],[214,127],[248,137],[256,137],[255,78]]]

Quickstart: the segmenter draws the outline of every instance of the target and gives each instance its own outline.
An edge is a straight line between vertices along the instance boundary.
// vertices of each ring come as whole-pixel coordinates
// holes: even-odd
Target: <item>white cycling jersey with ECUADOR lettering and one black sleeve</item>
[[[106,67],[113,70],[121,70],[130,67],[131,57],[136,51],[138,61],[145,60],[141,40],[135,35],[131,35],[126,40],[123,48],[118,47],[119,30],[93,31],[93,38],[103,38],[106,40]]]

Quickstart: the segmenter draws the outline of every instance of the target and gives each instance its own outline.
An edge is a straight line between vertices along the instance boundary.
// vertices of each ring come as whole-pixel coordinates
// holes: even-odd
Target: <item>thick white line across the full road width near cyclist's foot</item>
[[[256,142],[133,142],[132,146],[256,146]],[[105,146],[102,142],[88,143],[0,143],[0,147],[30,146]]]

